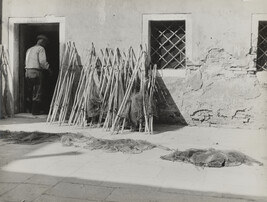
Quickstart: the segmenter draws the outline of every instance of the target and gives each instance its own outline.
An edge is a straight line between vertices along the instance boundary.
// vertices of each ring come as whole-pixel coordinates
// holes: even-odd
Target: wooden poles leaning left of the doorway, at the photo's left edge
[[[8,53],[5,50],[3,45],[0,45],[0,77],[3,78],[0,79],[0,92],[2,93],[0,95],[1,99],[1,115],[0,118],[3,117],[12,117],[14,115],[14,107],[13,107],[13,95],[10,90],[9,83],[11,82],[11,70],[9,66],[9,60],[8,60]],[[2,87],[2,85],[4,87]]]

